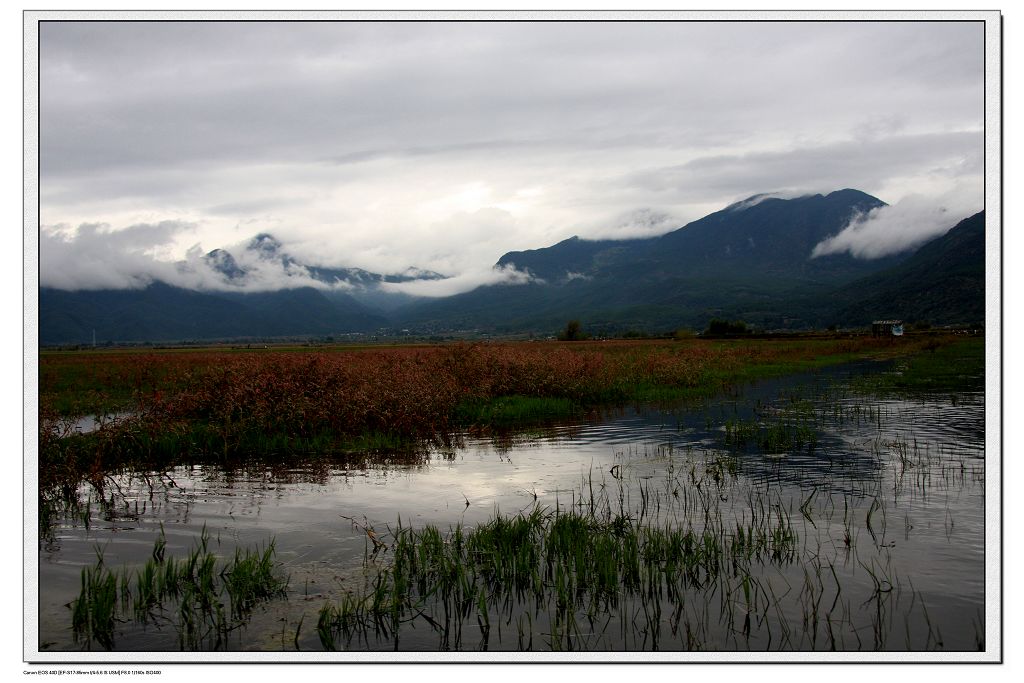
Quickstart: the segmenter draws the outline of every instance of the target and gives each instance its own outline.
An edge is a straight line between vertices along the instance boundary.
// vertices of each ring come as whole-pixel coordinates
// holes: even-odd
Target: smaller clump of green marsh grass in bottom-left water
[[[253,609],[285,596],[287,581],[274,571],[272,541],[258,550],[237,549],[226,562],[218,562],[209,541],[204,527],[187,555],[167,556],[161,526],[152,557],[134,570],[114,571],[97,550],[96,564],[82,569],[79,597],[69,605],[75,641],[114,649],[118,625],[133,622],[172,625],[182,650],[225,648]]]

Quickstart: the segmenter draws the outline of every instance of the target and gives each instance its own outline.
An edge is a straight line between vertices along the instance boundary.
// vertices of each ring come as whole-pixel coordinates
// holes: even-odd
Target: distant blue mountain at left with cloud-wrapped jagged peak
[[[441,278],[416,269],[385,275],[307,265],[268,233],[167,270],[178,275],[200,271],[201,278],[172,274],[170,282],[150,279],[134,287],[44,287],[40,343],[89,343],[93,332],[100,341],[130,342],[369,333],[388,324],[379,311],[409,300],[381,284]]]

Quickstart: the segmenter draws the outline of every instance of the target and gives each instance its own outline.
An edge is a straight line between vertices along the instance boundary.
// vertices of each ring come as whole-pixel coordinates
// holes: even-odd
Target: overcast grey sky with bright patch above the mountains
[[[982,208],[979,23],[44,23],[39,47],[44,286],[212,286],[170,264],[266,231],[446,294],[761,193],[893,205],[819,247],[863,258]]]

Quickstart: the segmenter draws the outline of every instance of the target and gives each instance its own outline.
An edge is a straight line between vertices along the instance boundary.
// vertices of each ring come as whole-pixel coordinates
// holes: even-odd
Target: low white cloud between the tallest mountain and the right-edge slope
[[[898,254],[945,234],[982,206],[980,194],[963,186],[941,197],[912,195],[856,216],[840,232],[815,246],[811,258],[844,252],[864,259]]]

